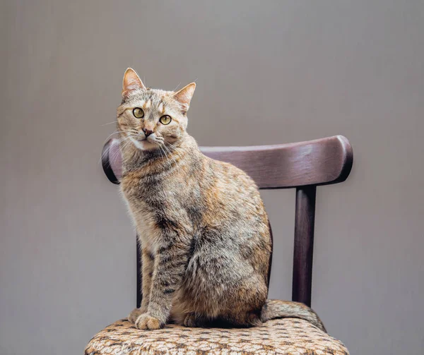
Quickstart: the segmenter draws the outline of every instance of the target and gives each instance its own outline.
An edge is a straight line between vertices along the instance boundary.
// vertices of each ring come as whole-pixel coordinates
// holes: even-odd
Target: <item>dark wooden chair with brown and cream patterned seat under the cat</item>
[[[317,186],[348,178],[353,164],[348,140],[333,136],[280,145],[203,147],[201,151],[244,170],[260,189],[296,188],[292,299],[310,306]],[[107,178],[118,184],[122,160],[117,140],[105,144],[102,166]],[[139,250],[137,244],[137,307],[142,297]],[[348,354],[348,350],[310,323],[295,318],[269,320],[261,327],[247,329],[167,325],[153,331],[137,330],[120,320],[95,335],[86,354]]]

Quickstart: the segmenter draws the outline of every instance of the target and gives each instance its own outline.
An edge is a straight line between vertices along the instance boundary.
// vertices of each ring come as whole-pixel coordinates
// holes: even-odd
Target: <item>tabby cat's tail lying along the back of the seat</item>
[[[307,320],[323,332],[326,332],[324,324],[319,319],[317,313],[300,302],[280,301],[278,299],[267,299],[261,311],[261,320],[276,318],[300,318]]]

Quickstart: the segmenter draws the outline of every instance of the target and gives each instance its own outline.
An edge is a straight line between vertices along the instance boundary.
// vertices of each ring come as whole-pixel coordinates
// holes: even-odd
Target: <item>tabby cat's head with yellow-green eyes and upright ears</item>
[[[130,140],[140,150],[158,150],[167,143],[179,145],[195,88],[195,83],[177,92],[146,88],[133,69],[126,69],[122,103],[117,109],[122,140]]]

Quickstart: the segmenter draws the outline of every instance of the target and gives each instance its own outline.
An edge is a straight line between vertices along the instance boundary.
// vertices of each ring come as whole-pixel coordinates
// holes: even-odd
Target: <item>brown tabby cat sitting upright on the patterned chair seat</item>
[[[201,153],[186,131],[196,88],[146,88],[128,68],[117,109],[121,191],[141,241],[139,329],[261,325],[295,317],[325,327],[302,303],[267,300],[269,220],[254,181]]]

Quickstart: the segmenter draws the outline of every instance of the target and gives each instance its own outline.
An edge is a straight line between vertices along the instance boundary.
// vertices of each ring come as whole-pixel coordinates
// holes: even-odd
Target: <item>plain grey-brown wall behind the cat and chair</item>
[[[317,193],[312,306],[351,354],[424,347],[423,1],[1,1],[0,354],[82,354],[135,303],[135,239],[100,150],[122,75],[196,80],[201,145],[343,134]],[[290,299],[293,191],[265,191]]]

